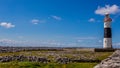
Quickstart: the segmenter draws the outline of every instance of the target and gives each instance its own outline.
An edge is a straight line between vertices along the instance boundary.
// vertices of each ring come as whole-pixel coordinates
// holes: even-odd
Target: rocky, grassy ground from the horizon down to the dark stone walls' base
[[[92,48],[0,47],[0,62],[99,63],[111,54],[112,52],[94,52]]]

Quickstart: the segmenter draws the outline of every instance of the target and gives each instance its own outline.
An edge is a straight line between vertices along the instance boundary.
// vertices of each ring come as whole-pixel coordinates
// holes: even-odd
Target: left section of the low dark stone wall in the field
[[[30,62],[41,62],[48,63],[50,60],[47,58],[37,57],[37,56],[24,56],[24,55],[13,55],[13,56],[0,56],[0,62],[10,62],[10,61],[30,61]]]

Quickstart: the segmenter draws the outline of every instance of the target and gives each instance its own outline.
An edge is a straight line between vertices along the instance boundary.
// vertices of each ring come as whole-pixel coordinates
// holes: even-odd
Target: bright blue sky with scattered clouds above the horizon
[[[99,8],[106,5],[117,6],[110,13],[113,45],[120,46],[119,0],[0,0],[0,45],[102,47]]]

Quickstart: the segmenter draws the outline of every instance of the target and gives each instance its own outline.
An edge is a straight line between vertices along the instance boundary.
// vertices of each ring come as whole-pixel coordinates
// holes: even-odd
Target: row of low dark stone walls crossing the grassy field
[[[0,62],[10,62],[10,61],[29,61],[29,62],[40,62],[40,63],[49,63],[53,62],[48,58],[39,57],[39,56],[24,56],[24,55],[13,55],[13,56],[0,56]],[[74,62],[100,62],[100,60],[95,59],[74,59],[74,58],[67,58],[67,57],[59,57],[54,60],[56,63],[59,64],[68,64]]]

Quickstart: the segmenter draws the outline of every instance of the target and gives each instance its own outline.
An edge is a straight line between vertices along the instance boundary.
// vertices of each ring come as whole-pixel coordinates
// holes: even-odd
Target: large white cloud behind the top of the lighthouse
[[[95,10],[96,14],[104,15],[105,13],[109,14],[116,14],[120,12],[120,8],[117,5],[105,5],[105,7],[98,7],[97,10]]]

